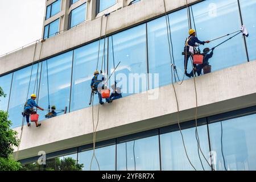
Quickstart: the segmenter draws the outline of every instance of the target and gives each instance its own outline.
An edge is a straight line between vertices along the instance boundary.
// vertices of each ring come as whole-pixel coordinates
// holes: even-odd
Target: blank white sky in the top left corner
[[[45,0],[0,0],[0,55],[42,38]]]

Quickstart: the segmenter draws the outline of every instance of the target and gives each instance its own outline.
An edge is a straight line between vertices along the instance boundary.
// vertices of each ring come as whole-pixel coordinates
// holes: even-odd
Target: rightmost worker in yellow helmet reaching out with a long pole
[[[207,41],[200,41],[199,39],[197,39],[196,37],[196,31],[191,29],[188,31],[188,38],[185,41],[185,47],[184,47],[184,52],[185,52],[185,56],[184,56],[184,69],[185,69],[185,75],[188,77],[192,77],[193,76],[193,70],[191,71],[191,73],[187,73],[187,67],[188,67],[188,59],[189,57],[196,53],[196,49],[195,47],[197,47],[196,43],[198,44],[205,44],[205,43],[210,43],[209,40]],[[196,64],[193,64],[193,69],[196,73]]]

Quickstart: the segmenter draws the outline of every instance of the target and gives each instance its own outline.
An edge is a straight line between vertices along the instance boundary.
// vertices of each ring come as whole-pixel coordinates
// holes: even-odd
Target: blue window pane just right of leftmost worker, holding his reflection
[[[43,61],[38,102],[40,107],[48,109],[48,105],[54,105],[56,109],[65,109],[65,106],[69,109],[72,53],[73,51],[63,53]],[[44,114],[40,114],[39,119],[45,119]]]

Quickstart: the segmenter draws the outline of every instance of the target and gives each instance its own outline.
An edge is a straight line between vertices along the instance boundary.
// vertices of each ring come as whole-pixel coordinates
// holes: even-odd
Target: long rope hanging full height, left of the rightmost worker
[[[164,2],[164,11],[165,11],[165,15],[166,15],[166,25],[167,25],[167,34],[169,32],[168,30],[168,20],[167,20],[167,12],[166,12],[166,1],[163,0]],[[168,34],[169,35],[169,34]],[[176,89],[175,89],[175,86],[174,86],[174,73],[173,73],[173,69],[174,69],[174,64],[172,63],[172,56],[171,56],[171,44],[170,44],[170,40],[169,40],[169,36],[168,36],[168,45],[169,45],[169,53],[170,53],[170,59],[171,59],[171,80],[172,80],[172,87],[174,88],[174,93],[175,93],[175,98],[176,98],[176,104],[177,104],[177,123],[178,123],[178,126],[179,126],[179,131],[180,131],[180,134],[181,134],[181,139],[182,139],[182,142],[183,142],[183,147],[184,147],[184,151],[185,151],[185,154],[187,156],[187,159],[188,159],[188,162],[191,164],[191,166],[195,169],[196,171],[196,168],[193,166],[193,164],[191,163],[191,160],[189,159],[189,156],[188,156],[188,152],[187,152],[187,148],[185,147],[185,142],[184,142],[184,137],[183,137],[183,133],[181,131],[181,127],[180,127],[180,118],[179,118],[179,102],[177,101],[177,93],[176,93]]]

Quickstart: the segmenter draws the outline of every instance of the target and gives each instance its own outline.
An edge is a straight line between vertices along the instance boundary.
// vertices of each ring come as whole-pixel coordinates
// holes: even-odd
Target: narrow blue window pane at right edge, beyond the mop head
[[[242,11],[242,18],[243,24],[245,24],[248,32],[249,37],[246,38],[247,42],[247,49],[249,53],[250,60],[256,59],[256,1],[246,1],[240,0],[241,11]]]

